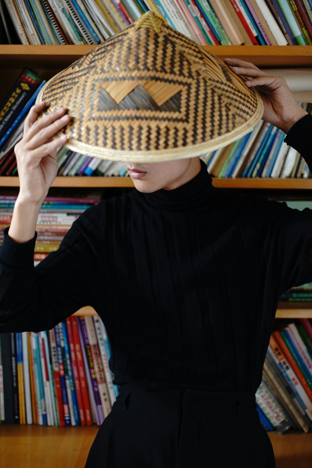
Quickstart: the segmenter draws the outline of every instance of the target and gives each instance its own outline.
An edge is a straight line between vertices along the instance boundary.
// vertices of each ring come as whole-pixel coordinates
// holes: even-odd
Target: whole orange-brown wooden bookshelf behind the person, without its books
[[[59,71],[70,66],[96,46],[89,45],[1,45],[0,101],[5,97],[22,67],[33,68],[41,77],[50,79]],[[312,67],[312,46],[206,46],[207,51],[221,59],[238,58],[262,68]],[[237,189],[308,190],[311,179],[218,179],[213,178],[215,187]],[[18,187],[18,177],[0,177],[2,189]],[[57,177],[52,187],[104,188],[133,187],[130,177]],[[76,313],[96,314],[93,307],[83,307]],[[280,302],[277,319],[312,318],[312,302]],[[64,466],[84,468],[87,454],[98,431],[90,427],[46,427],[37,425],[0,424],[0,466],[54,468]],[[312,432],[308,434],[288,432],[280,435],[268,432],[271,439],[277,468],[310,468],[312,460]]]

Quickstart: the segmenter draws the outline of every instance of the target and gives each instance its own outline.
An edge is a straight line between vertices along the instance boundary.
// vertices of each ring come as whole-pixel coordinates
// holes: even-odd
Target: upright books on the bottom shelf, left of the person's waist
[[[0,334],[0,418],[14,424],[102,424],[118,395],[100,317]]]

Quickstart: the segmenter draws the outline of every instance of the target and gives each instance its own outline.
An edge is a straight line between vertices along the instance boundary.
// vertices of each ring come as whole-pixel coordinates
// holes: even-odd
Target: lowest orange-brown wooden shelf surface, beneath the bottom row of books
[[[0,424],[0,468],[84,468],[98,429]],[[312,467],[312,432],[268,434],[276,468]]]

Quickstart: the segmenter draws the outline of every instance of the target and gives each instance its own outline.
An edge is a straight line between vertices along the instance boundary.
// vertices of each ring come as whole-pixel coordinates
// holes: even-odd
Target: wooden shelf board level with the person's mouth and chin
[[[225,189],[312,189],[312,179],[219,179],[212,177],[212,185]],[[0,187],[19,187],[18,176],[0,176]],[[51,187],[134,187],[131,177],[58,176]]]

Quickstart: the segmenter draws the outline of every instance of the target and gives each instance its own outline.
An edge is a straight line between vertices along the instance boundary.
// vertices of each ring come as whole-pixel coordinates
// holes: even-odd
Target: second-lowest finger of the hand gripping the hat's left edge
[[[52,118],[56,118],[56,120],[51,122]],[[29,130],[29,149],[35,149],[38,146],[43,145],[71,121],[71,117],[68,114],[63,115],[62,117],[53,116],[51,117],[51,119],[46,119],[45,122],[38,121],[36,126],[33,125],[32,128]],[[45,120],[45,118],[41,120]],[[49,120],[51,123],[50,125],[46,126],[46,123],[48,123]]]

